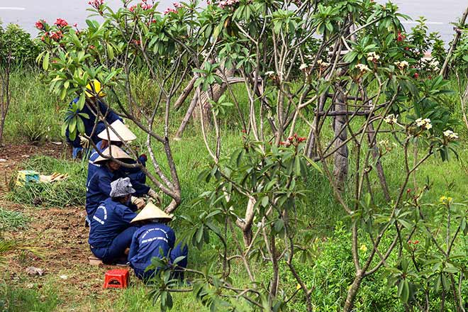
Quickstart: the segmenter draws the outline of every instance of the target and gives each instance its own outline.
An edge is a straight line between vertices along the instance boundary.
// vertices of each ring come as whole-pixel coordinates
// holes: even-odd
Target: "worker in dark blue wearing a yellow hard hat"
[[[106,116],[106,121],[109,124],[113,123],[116,120],[122,121],[122,119],[101,101],[101,98],[106,96],[106,94],[102,91],[101,83],[98,80],[93,80],[93,82],[88,84],[87,90],[88,91],[85,91],[86,103],[84,104],[84,107],[82,109],[77,109],[76,107],[74,107],[79,101],[79,97],[73,99],[73,101],[69,104],[69,110],[67,112],[67,117],[65,118],[65,121],[68,121],[69,119],[72,119],[78,114],[80,114],[77,118],[81,118],[84,123],[83,134],[87,135],[87,137],[91,137],[91,140],[93,140],[94,144],[96,144],[99,142],[99,140],[101,140],[98,138],[98,133],[100,133],[106,128],[104,121],[98,121],[96,129],[94,129],[96,123],[96,116],[98,114],[96,110],[96,105],[99,106],[99,112],[101,116]],[[98,99],[96,99],[96,96],[94,96],[94,94],[98,95]],[[87,149],[90,146],[89,139],[86,138],[84,135],[79,134],[74,138],[74,140],[72,140],[69,137],[68,128],[65,132],[67,142],[73,147],[73,159],[77,158],[79,152],[82,152],[83,147]]]

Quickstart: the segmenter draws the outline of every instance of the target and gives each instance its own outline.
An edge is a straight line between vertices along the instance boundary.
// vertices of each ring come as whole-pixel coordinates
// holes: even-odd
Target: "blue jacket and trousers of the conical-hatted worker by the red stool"
[[[155,270],[145,272],[152,257],[169,257],[169,262],[172,263],[177,257],[184,256],[184,260],[178,262],[177,266],[186,267],[189,250],[186,245],[174,247],[175,240],[174,230],[164,223],[150,223],[138,228],[133,234],[128,252],[128,261],[135,270],[135,275],[147,281],[155,274]],[[176,269],[174,273],[173,277],[183,279],[183,272],[177,272]]]

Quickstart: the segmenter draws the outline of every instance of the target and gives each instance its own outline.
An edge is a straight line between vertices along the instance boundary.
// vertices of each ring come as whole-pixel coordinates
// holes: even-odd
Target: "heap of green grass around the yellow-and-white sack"
[[[48,156],[37,156],[21,165],[21,169],[35,170],[40,174],[53,172],[67,173],[62,182],[31,183],[26,186],[13,186],[7,199],[18,204],[65,207],[84,205],[86,195],[87,162],[57,160]]]

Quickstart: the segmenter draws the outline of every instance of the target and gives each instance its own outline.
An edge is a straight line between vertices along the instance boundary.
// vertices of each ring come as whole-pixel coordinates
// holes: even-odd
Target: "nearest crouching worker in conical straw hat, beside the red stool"
[[[188,248],[182,244],[175,245],[176,237],[174,230],[167,223],[172,221],[172,215],[157,208],[155,204],[148,203],[138,216],[130,222],[139,225],[138,230],[133,234],[128,261],[130,267],[135,270],[135,275],[147,282],[155,274],[155,269],[148,269],[152,257],[167,257],[169,264],[173,264],[172,277],[184,279],[184,268],[188,261]],[[183,257],[182,260],[174,264],[174,260]]]

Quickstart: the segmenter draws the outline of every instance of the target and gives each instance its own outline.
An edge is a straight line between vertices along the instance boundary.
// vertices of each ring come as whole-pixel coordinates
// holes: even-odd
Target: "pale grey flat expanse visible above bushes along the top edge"
[[[87,16],[90,12],[89,0],[0,0],[0,19],[7,23],[18,23],[29,33],[36,35],[38,31],[34,28],[34,23],[43,18],[49,23],[55,22],[56,18],[64,18],[70,25],[78,24],[84,27]],[[172,2],[176,0],[161,0],[158,9],[164,11]],[[377,0],[384,4],[386,1]],[[134,1],[138,3],[139,1]],[[121,6],[120,0],[106,0],[113,9]],[[408,14],[414,21],[419,16],[428,18],[429,31],[438,31],[445,42],[449,42],[453,35],[453,26],[450,22],[457,21],[465,7],[467,1],[462,0],[394,0],[401,10],[401,13]],[[100,19],[99,17],[95,17]],[[409,31],[415,22],[405,22],[404,26]]]

